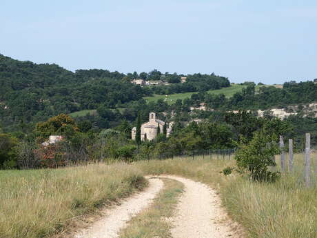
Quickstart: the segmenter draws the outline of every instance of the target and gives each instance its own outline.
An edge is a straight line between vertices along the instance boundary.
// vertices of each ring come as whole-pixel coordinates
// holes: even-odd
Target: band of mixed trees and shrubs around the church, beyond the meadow
[[[258,119],[247,112],[223,116],[189,124],[176,116],[170,137],[166,137],[165,127],[154,141],[141,143],[140,139],[132,141],[132,124],[126,120],[115,128],[98,130],[91,121],[75,121],[62,114],[37,123],[32,133],[22,139],[0,133],[0,168],[55,168],[91,160],[190,155],[195,150],[234,148],[241,136],[252,139],[250,135],[261,128],[269,128],[276,134],[288,128],[278,119]],[[139,114],[136,123],[140,126],[142,122]],[[50,135],[61,135],[64,140],[42,146]]]

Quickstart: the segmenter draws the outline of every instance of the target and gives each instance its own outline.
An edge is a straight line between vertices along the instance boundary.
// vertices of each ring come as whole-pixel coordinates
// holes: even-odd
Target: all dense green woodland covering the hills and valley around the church
[[[185,83],[181,83],[181,77],[187,77]],[[131,83],[140,78],[167,83],[150,87]],[[263,86],[258,91],[253,82],[243,84],[247,88],[226,98],[207,92],[230,86],[226,77],[214,74],[70,72],[55,64],[0,55],[0,168],[55,167],[90,159],[149,159],[195,150],[232,149],[241,138],[251,140],[260,130],[294,138],[297,149],[303,148],[305,132],[311,132],[311,141],[316,143],[317,118],[303,115],[300,107],[298,115],[284,120],[256,115],[258,109],[316,102],[314,81],[290,81],[283,88]],[[196,93],[172,105],[163,99],[143,99],[177,92]],[[191,110],[200,103],[209,110]],[[76,118],[68,116],[80,110],[94,111]],[[171,137],[161,133],[155,141],[132,141],[132,127],[138,121],[147,121],[152,111],[163,121],[174,122]],[[42,148],[49,135],[63,135],[68,143]]]

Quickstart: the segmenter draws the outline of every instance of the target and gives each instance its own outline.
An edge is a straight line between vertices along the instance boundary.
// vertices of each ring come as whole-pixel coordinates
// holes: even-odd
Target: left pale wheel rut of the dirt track
[[[124,228],[134,215],[150,205],[163,188],[161,179],[149,179],[150,186],[145,191],[140,192],[120,206],[112,209],[105,209],[105,216],[96,221],[90,228],[81,230],[74,238],[114,238],[118,237],[118,232]]]

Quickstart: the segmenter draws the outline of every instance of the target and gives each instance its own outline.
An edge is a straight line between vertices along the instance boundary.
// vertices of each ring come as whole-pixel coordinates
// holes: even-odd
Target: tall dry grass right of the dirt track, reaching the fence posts
[[[225,177],[219,173],[233,164],[234,161],[222,159],[170,159],[139,162],[136,166],[147,174],[180,175],[216,188],[223,206],[243,225],[247,237],[317,237],[317,177],[312,178],[311,188],[305,188],[303,155],[295,157],[294,173],[283,175],[274,184],[254,183],[238,175]]]

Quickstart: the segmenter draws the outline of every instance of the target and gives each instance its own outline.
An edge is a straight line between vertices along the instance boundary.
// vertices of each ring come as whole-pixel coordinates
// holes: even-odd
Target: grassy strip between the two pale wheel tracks
[[[154,199],[152,206],[134,217],[129,226],[121,231],[120,238],[171,237],[168,218],[173,215],[178,196],[183,191],[183,184],[171,179],[163,181],[164,188]]]

